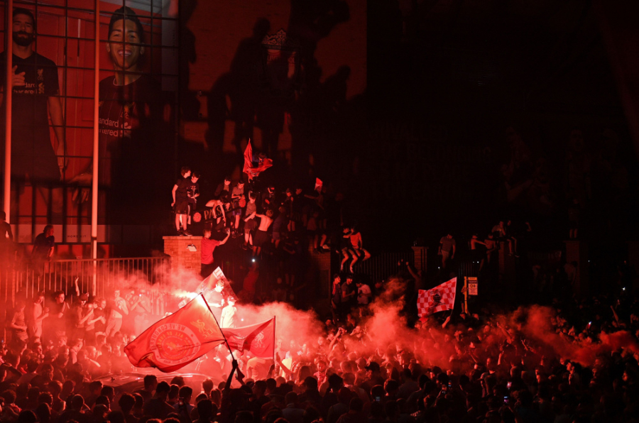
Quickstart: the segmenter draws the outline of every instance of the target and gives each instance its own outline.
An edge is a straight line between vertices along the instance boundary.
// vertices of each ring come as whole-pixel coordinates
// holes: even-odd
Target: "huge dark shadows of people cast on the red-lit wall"
[[[189,65],[197,57],[195,36],[185,25],[195,4],[190,1],[182,6],[184,45],[180,71],[185,75],[185,121],[202,119],[198,94],[188,90],[187,77]],[[344,145],[352,143],[349,138],[353,127],[359,126],[356,131],[360,131],[365,125],[364,102],[357,98],[346,101],[351,73],[348,66],[339,67],[322,83],[322,69],[315,59],[317,43],[349,18],[346,1],[292,0],[286,35],[287,41],[295,40],[299,45],[294,72],[290,71],[291,61],[285,54],[267,62],[262,42],[278,28],[271,28],[268,19],[259,18],[253,33],[239,42],[229,72],[214,81],[209,92],[202,93],[207,95],[205,142],[181,146],[180,163],[202,170],[204,179],[216,182],[224,175],[238,176],[244,148],[251,138],[257,140],[254,151],[262,150],[275,161],[273,169],[265,174],[271,182],[290,180],[291,176],[312,177],[317,172],[315,167],[322,168],[322,172],[350,169],[350,163],[337,162],[346,160],[341,157],[347,156],[344,153],[349,148]],[[232,150],[228,145],[224,148],[224,140],[229,138]],[[339,160],[335,159],[336,152],[340,153]]]

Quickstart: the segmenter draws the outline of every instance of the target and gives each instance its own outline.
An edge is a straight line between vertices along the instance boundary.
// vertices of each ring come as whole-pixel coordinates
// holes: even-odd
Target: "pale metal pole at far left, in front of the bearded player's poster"
[[[13,99],[13,0],[6,2],[6,81],[4,82],[5,136],[4,136],[4,212],[6,221],[11,223],[11,107]]]

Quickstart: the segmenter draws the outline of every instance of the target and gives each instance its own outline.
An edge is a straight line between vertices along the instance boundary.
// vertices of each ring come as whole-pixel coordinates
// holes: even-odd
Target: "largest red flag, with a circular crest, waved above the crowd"
[[[202,294],[155,322],[124,347],[136,367],[173,372],[224,343],[224,334]]]

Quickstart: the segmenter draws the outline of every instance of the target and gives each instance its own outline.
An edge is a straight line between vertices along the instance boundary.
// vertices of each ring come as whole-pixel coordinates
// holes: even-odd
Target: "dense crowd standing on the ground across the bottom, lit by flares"
[[[133,320],[129,326],[119,326],[121,320],[114,321],[113,314],[103,319],[99,309],[124,314],[126,308],[125,315],[133,314],[136,304],[146,302],[138,300],[142,292],[126,292],[129,298],[117,292],[108,305],[99,300],[90,317],[82,312],[82,294],[80,307],[70,309],[58,295],[55,304],[62,311],[40,307],[39,295],[33,300],[35,321],[18,302],[14,336],[0,347],[0,418],[19,423],[638,419],[639,302],[630,290],[590,300],[557,297],[552,307],[503,307],[498,313],[493,304],[472,314],[442,312],[408,327],[402,315],[412,301],[408,278],[362,292],[358,288],[365,284],[354,284],[351,277],[342,284],[336,275],[334,287],[346,292],[346,302],[324,324],[317,322],[321,329],[314,338],[278,333],[274,359],[258,364],[235,351],[238,361],[228,380],[218,376],[189,387],[179,378],[158,383],[148,375],[143,388],[119,397],[111,386],[92,380],[134,370],[123,348],[146,322],[140,313],[139,319],[125,319]],[[67,326],[47,323],[60,314],[69,316]],[[45,331],[37,329],[42,322]],[[87,336],[91,328],[94,337]]]

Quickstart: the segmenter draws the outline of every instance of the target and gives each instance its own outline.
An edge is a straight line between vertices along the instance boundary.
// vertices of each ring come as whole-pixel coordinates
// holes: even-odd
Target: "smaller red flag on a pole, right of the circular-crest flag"
[[[275,317],[251,326],[222,329],[231,350],[251,351],[259,358],[273,358]]]

